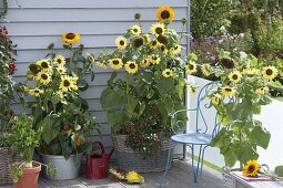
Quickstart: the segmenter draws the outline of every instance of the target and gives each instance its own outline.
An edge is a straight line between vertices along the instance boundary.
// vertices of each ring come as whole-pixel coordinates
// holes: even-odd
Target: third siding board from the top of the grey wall
[[[185,17],[185,15],[183,15]],[[132,17],[131,17],[132,18]],[[151,21],[142,21],[143,32],[150,32],[150,27],[152,23],[156,22],[154,18]],[[80,22],[8,22],[2,23],[7,27],[9,35],[61,35],[64,32],[78,32],[82,35],[122,35],[125,33],[127,29],[137,24],[133,21],[109,21],[109,22],[91,22],[91,21],[80,21]],[[181,21],[173,21],[170,27],[174,28],[176,32],[182,31]],[[51,41],[50,41],[51,42]]]

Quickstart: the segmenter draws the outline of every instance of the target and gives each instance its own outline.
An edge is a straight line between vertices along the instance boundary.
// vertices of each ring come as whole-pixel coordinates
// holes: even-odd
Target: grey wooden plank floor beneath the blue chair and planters
[[[100,180],[87,179],[83,175],[73,180],[47,180],[41,178],[38,188],[68,187],[68,188],[158,188],[161,173],[142,174],[145,182],[143,185],[129,185],[118,181],[112,176]],[[183,160],[174,160],[164,180],[163,188],[191,188],[191,164]],[[0,188],[11,188],[12,186],[0,186]],[[203,167],[202,182],[199,188],[221,188],[223,187],[222,175],[209,167]]]

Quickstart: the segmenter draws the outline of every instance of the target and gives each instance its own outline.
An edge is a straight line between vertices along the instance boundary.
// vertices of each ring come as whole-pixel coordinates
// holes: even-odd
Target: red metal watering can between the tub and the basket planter
[[[111,149],[110,154],[107,154],[104,146],[100,142],[93,142],[92,148],[97,144],[100,146],[101,154],[87,156],[87,178],[89,179],[102,179],[108,176],[108,164],[114,150]]]

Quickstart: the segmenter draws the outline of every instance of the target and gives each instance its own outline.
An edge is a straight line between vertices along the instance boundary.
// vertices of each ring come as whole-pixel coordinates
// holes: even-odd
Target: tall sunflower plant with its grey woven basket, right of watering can
[[[184,33],[179,35],[169,27],[174,18],[171,7],[159,8],[156,17],[159,22],[146,33],[137,13],[138,24],[117,38],[117,50],[98,58],[99,66],[114,70],[100,102],[112,127],[119,166],[124,170],[164,169],[166,160],[162,157],[172,148],[166,142],[170,113],[185,108],[186,58],[180,45]],[[182,23],[184,27],[185,19]],[[125,72],[120,71],[123,69]]]

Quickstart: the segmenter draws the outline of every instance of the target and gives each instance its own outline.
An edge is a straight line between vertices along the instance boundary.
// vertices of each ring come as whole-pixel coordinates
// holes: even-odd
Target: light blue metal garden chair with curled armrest
[[[220,123],[218,122],[218,114],[216,111],[214,111],[213,115],[213,123],[209,125],[209,122],[205,119],[203,111],[210,108],[210,102],[205,102],[205,98],[209,94],[209,92],[218,86],[218,82],[210,82],[205,84],[202,88],[200,88],[200,92],[196,97],[196,106],[192,109],[181,109],[176,111],[171,115],[171,128],[174,132],[176,129],[175,127],[183,126],[183,132],[174,132],[174,135],[171,136],[171,142],[174,142],[175,144],[182,144],[184,146],[189,146],[191,148],[191,158],[192,158],[192,174],[193,174],[193,182],[198,182],[198,177],[202,177],[202,167],[203,167],[203,157],[204,152],[208,146],[210,146],[211,139],[219,133],[220,130]],[[211,107],[212,108],[212,107]],[[211,112],[211,109],[209,109]],[[186,121],[176,121],[176,116],[180,113],[192,113],[195,114],[195,129],[192,133],[185,133],[185,125]],[[213,112],[213,111],[212,111]],[[210,114],[211,116],[211,114]],[[189,119],[190,121],[190,119]],[[211,122],[211,121],[210,121]],[[192,125],[192,124],[190,124]],[[199,155],[196,160],[196,166],[194,164],[194,155],[195,155],[195,147],[199,147]],[[166,176],[168,169],[169,169],[169,163],[171,155],[173,155],[173,150],[170,150],[168,154],[168,166],[166,170],[164,171],[163,176],[160,180],[160,187],[162,187],[162,182]]]

